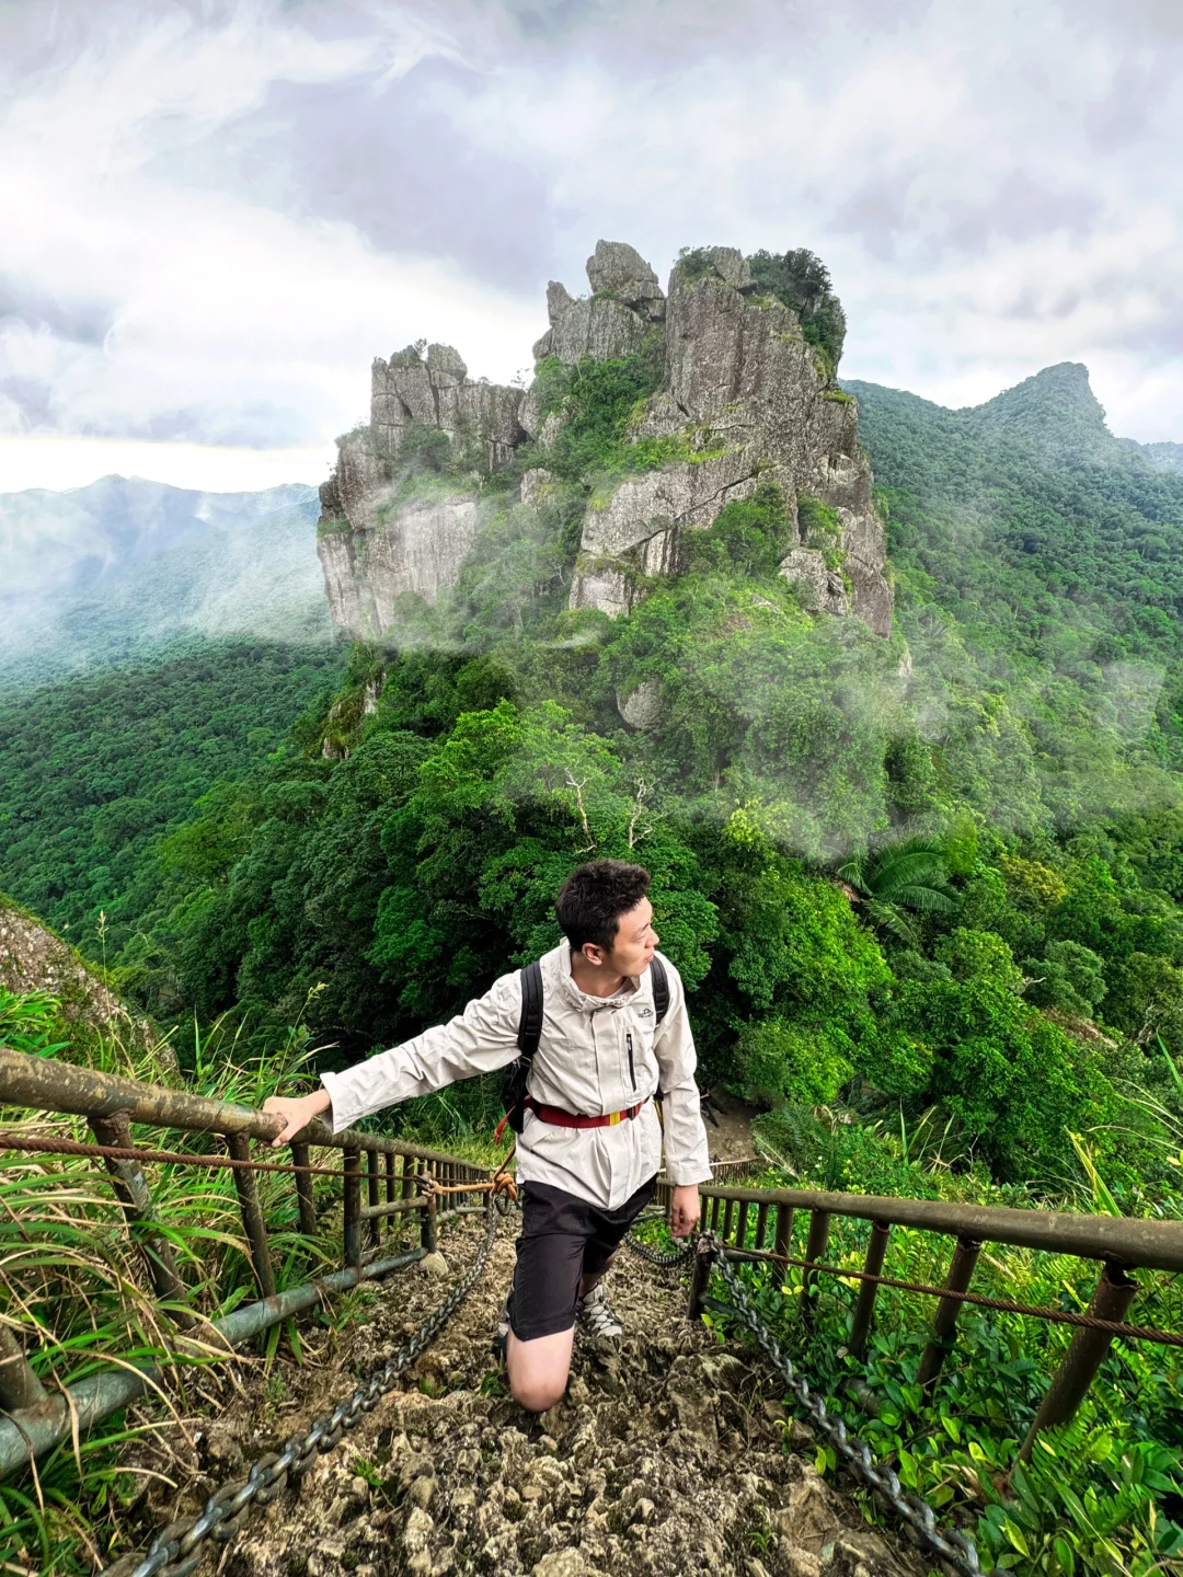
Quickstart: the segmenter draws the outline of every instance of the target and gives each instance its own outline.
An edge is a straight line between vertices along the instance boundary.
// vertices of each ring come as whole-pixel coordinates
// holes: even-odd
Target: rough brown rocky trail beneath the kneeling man
[[[445,1240],[446,1268],[401,1271],[344,1326],[331,1361],[249,1381],[192,1426],[196,1479],[156,1515],[185,1515],[355,1377],[371,1374],[470,1263],[483,1227]],[[609,1288],[628,1334],[576,1342],[563,1402],[533,1418],[506,1394],[491,1336],[516,1216],[451,1326],[297,1489],[205,1556],[224,1577],[904,1577],[923,1571],[872,1533],[812,1467],[812,1437],[774,1378],[685,1318],[685,1266],[621,1254]],[[276,1396],[282,1400],[276,1404]],[[787,1435],[787,1441],[786,1441]],[[790,1449],[786,1449],[786,1445]],[[793,1451],[792,1448],[797,1448]],[[174,1468],[177,1462],[174,1460]],[[144,1508],[148,1512],[148,1508]],[[153,1517],[153,1522],[156,1517]]]

